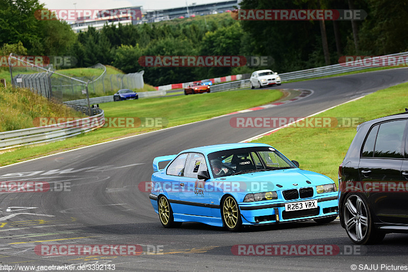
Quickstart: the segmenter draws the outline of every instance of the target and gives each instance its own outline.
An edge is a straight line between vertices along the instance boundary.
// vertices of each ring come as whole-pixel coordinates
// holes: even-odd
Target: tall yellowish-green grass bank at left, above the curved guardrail
[[[0,87],[0,131],[34,127],[37,117],[85,117],[25,88]]]

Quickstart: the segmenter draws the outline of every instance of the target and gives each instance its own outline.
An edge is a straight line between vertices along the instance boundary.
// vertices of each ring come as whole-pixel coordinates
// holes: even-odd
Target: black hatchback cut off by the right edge
[[[362,123],[339,167],[341,226],[357,244],[408,233],[408,109]]]

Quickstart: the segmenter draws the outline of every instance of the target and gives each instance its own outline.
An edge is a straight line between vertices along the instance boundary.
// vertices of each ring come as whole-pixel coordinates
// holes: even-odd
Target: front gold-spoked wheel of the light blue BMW
[[[239,231],[242,227],[238,203],[231,195],[225,197],[221,205],[221,217],[228,231]]]

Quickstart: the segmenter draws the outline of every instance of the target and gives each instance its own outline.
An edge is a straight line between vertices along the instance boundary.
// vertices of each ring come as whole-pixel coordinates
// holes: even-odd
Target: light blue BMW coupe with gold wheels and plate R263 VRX
[[[268,144],[196,147],[154,159],[149,199],[165,228],[201,222],[238,231],[242,225],[335,220],[336,184],[298,167]]]

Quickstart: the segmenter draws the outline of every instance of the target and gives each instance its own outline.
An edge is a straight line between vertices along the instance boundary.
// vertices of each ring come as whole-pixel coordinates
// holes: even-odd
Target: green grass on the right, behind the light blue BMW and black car
[[[316,116],[360,117],[368,121],[403,112],[407,106],[406,101],[408,101],[408,83],[379,90],[360,100],[338,106]],[[355,127],[288,127],[253,142],[268,143],[290,160],[297,160],[300,168],[319,172],[337,183],[339,165],[346,155],[355,132]]]

